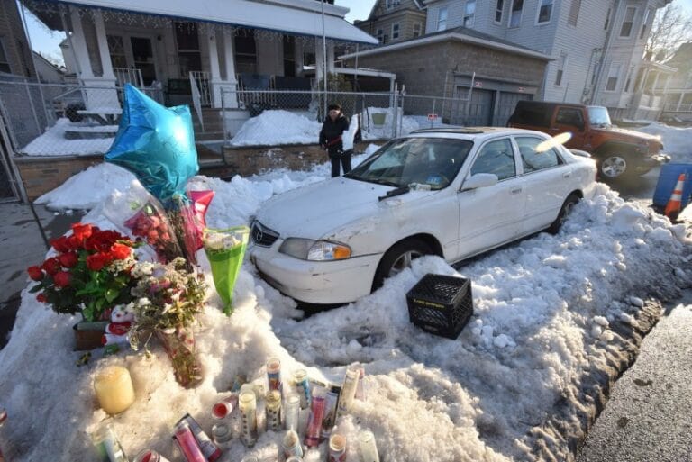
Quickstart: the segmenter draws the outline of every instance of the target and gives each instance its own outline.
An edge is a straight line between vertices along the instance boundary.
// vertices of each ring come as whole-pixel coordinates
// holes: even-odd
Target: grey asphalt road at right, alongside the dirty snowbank
[[[658,173],[651,171],[638,184],[612,187],[624,199],[648,206]],[[691,304],[688,289],[666,306],[633,367],[613,386],[577,462],[692,461]]]

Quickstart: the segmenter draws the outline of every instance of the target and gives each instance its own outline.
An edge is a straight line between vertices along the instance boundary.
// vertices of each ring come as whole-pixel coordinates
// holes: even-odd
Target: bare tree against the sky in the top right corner
[[[651,24],[651,32],[644,47],[644,56],[654,61],[668,59],[678,46],[692,40],[692,17],[679,5],[661,8]]]

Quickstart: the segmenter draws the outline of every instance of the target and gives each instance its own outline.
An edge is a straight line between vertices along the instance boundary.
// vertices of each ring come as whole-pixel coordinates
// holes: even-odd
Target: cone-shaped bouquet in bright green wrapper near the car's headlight
[[[221,297],[226,315],[232,313],[233,288],[241,271],[249,236],[250,228],[247,226],[225,230],[205,229],[205,253],[212,267],[214,287]]]

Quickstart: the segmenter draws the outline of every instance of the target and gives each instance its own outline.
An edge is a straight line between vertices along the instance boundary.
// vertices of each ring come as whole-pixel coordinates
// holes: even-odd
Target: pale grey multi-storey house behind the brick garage
[[[642,100],[635,81],[650,68],[642,56],[653,17],[670,1],[428,0],[425,29],[464,26],[545,53],[552,61],[539,98],[626,115]]]

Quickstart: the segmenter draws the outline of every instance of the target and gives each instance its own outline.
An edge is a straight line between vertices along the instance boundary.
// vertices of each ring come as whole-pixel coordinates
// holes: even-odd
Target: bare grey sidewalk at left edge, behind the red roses
[[[0,266],[0,349],[14,325],[21,303],[20,294],[27,285],[26,268],[40,265],[48,250],[50,239],[64,234],[82,213],[54,213],[42,205],[0,204],[0,244],[4,264]]]

